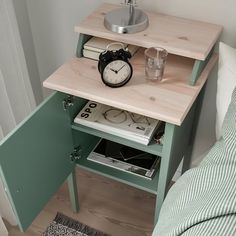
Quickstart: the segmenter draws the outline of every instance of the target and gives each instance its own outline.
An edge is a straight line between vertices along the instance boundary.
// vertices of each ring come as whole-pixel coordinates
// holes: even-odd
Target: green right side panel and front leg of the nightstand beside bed
[[[160,175],[157,187],[154,223],[156,223],[158,220],[161,205],[167,193],[167,187],[172,180],[181,160],[184,156],[186,156],[186,160],[190,159],[191,157],[187,154],[189,150],[189,140],[191,139],[191,135],[193,135],[192,127],[194,116],[196,115],[195,110],[197,102],[198,100],[195,101],[191,107],[181,126],[166,124]]]

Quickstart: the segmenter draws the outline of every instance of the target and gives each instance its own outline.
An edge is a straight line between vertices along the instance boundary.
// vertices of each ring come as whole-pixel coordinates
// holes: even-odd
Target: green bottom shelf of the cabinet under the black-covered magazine
[[[110,179],[116,180],[118,182],[128,184],[138,189],[150,193],[157,193],[157,183],[159,177],[159,170],[157,170],[154,178],[152,180],[137,176],[132,173],[121,171],[109,166],[105,166],[93,161],[89,161],[86,157],[82,157],[77,161],[77,165],[85,170],[100,174],[102,176],[108,177]]]

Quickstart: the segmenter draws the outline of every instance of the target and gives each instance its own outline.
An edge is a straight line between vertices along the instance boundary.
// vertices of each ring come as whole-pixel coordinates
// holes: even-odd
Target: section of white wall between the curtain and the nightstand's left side
[[[74,26],[101,1],[26,0],[26,2],[40,78],[43,81],[75,54],[78,34],[74,33]]]

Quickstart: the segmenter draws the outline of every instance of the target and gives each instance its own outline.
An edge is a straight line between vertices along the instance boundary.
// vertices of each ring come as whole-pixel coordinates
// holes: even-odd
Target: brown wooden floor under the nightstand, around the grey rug
[[[150,236],[155,195],[77,168],[80,212],[71,211],[66,183],[25,233],[8,226],[10,236],[39,236],[62,212],[112,236]]]

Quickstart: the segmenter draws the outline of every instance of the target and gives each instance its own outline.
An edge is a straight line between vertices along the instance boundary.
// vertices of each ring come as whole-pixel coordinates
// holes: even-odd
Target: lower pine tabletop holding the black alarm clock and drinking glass
[[[128,84],[112,89],[102,83],[97,61],[72,58],[43,86],[74,96],[181,125],[217,61],[213,55],[195,86],[189,85],[194,60],[168,55],[161,82],[145,79],[143,49],[132,58],[134,74]]]

